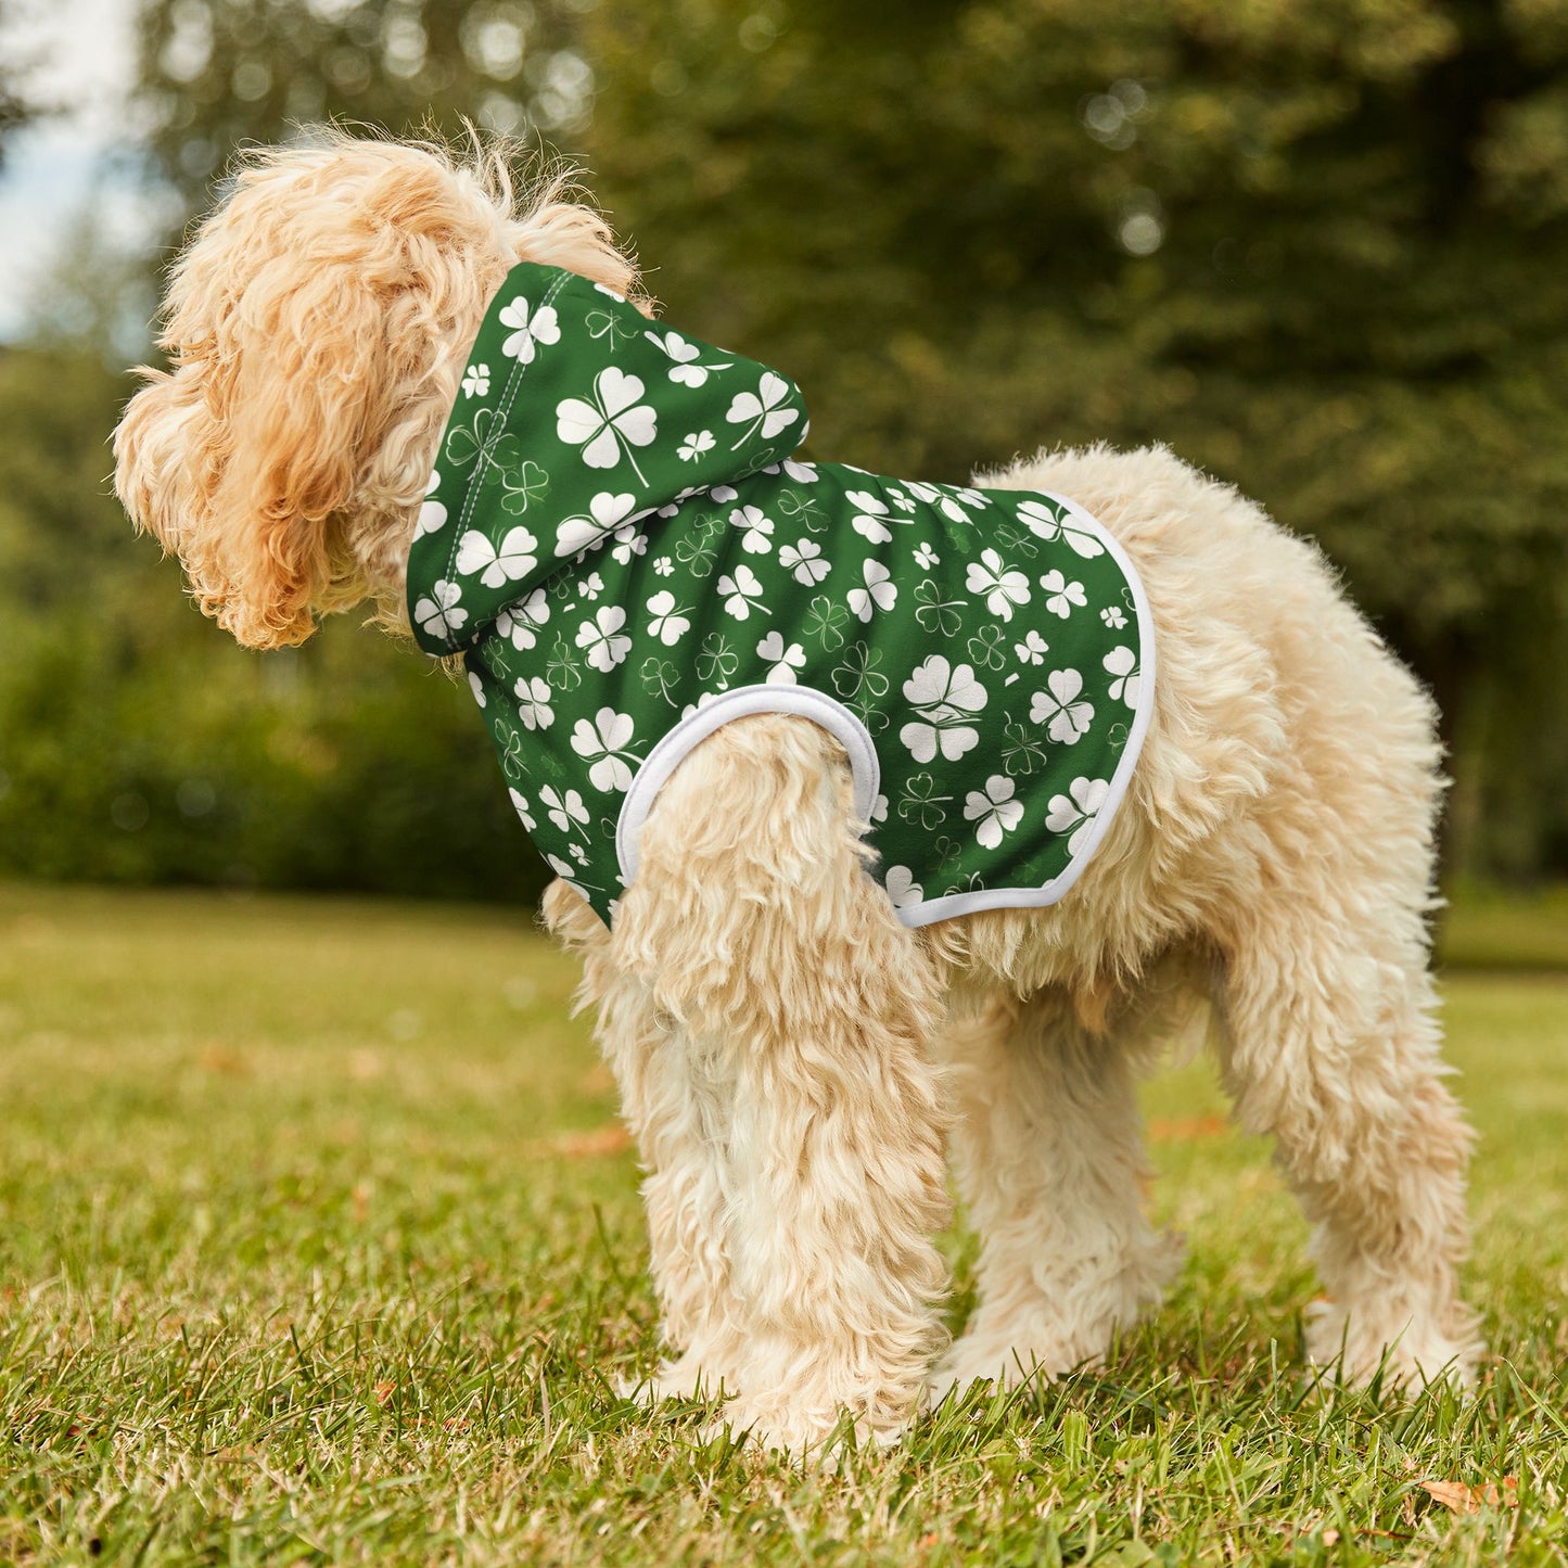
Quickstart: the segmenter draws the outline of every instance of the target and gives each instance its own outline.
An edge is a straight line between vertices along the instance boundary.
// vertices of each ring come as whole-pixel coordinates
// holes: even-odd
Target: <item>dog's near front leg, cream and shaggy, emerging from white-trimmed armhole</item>
[[[726,1422],[792,1454],[845,1411],[892,1439],[944,1341],[938,983],[866,875],[822,729],[737,720],[687,759],[643,829],[616,946],[681,1041],[662,1094],[723,1193],[688,1184],[681,1207],[687,1251],[723,1259]]]

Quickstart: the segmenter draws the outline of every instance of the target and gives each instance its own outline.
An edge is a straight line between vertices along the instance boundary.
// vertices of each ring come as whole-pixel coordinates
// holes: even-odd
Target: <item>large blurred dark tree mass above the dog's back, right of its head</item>
[[[825,452],[958,478],[1171,444],[1320,539],[1435,687],[1463,864],[1562,833],[1538,742],[1568,715],[1526,657],[1568,612],[1559,0],[605,0],[583,28],[652,289],[790,370]]]

